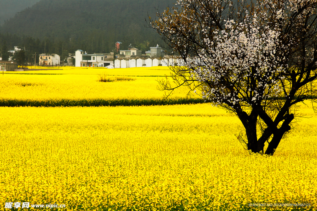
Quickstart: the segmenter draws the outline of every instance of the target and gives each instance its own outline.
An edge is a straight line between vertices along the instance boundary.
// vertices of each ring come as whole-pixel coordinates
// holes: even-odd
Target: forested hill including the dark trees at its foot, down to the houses
[[[127,49],[132,43],[144,53],[148,47],[163,44],[158,34],[144,27],[145,19],[148,15],[155,16],[155,8],[164,10],[174,2],[42,0],[5,22],[0,31],[6,34],[0,34],[0,41],[7,40],[10,48],[23,44],[29,51],[28,62],[35,52],[44,53],[44,46],[45,53],[59,55],[63,50],[74,53],[77,49],[110,53],[114,43],[121,41],[121,49]],[[144,46],[145,41],[149,46]]]

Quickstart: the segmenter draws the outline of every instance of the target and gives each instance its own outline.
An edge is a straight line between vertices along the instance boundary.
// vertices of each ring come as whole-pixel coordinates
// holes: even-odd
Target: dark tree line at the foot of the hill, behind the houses
[[[96,36],[95,36],[96,37]],[[129,42],[130,40],[117,40],[121,41],[121,50],[127,50],[128,46],[138,48],[145,53],[150,47],[161,44],[162,40],[140,40],[135,43]],[[99,39],[57,39],[54,37],[45,37],[44,39],[33,38],[30,36],[19,37],[12,34],[0,34],[0,55],[2,60],[9,59],[9,50],[13,50],[15,46],[20,47],[24,52],[23,63],[34,64],[34,57],[36,53],[36,63],[39,61],[39,54],[41,53],[56,53],[61,56],[61,61],[67,60],[69,53],[75,53],[77,49],[86,51],[87,53],[110,53],[114,51],[115,42],[106,41],[100,37]],[[15,57],[16,59],[16,57]]]

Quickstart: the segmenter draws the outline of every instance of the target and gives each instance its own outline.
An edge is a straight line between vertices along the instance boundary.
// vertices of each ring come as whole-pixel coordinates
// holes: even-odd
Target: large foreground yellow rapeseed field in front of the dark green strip
[[[43,75],[42,83],[73,89],[69,75]],[[42,91],[39,97],[49,95]],[[25,210],[6,209],[8,202],[66,206],[31,210],[317,210],[317,115],[306,103],[300,112],[309,118],[271,157],[245,151],[235,137],[239,119],[207,103],[0,107],[0,210]]]

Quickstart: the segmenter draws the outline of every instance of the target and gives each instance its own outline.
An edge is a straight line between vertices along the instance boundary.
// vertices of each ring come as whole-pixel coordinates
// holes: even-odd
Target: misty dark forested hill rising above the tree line
[[[110,45],[116,41],[129,43],[159,39],[145,28],[148,14],[163,10],[176,0],[41,0],[24,9],[1,27],[2,34],[33,38],[69,40],[77,44]],[[89,41],[90,40],[90,41]],[[89,41],[89,42],[88,42]],[[98,51],[98,49],[95,49]]]

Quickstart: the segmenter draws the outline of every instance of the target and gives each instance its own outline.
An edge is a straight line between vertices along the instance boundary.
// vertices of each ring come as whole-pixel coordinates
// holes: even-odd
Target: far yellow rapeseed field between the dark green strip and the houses
[[[65,67],[63,67],[65,68]],[[155,69],[156,68],[156,69]],[[168,67],[153,68],[74,68],[67,70],[21,71],[6,72],[0,77],[0,101],[58,101],[61,100],[103,100],[117,99],[161,101],[164,92],[157,89],[158,79],[162,76],[149,77],[147,75],[169,75]],[[126,74],[131,81],[100,82],[99,75]],[[147,74],[146,73],[147,70]],[[14,73],[14,74],[12,74]],[[144,73],[144,74],[143,74]],[[130,76],[136,75],[136,76]],[[181,87],[174,91],[171,99],[184,98],[188,88]],[[7,106],[7,104],[4,104]],[[61,104],[62,105],[62,104]],[[108,104],[106,104],[108,105]]]

